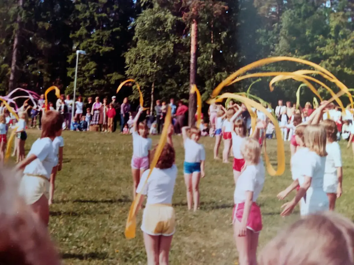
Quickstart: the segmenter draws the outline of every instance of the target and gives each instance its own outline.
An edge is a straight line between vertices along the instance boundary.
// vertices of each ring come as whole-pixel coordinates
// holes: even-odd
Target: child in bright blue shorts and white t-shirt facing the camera
[[[189,130],[189,137],[187,134]],[[204,146],[198,143],[201,132],[197,128],[183,127],[182,137],[184,145],[184,182],[187,188],[188,210],[194,211],[199,207],[199,181],[205,176],[205,150]]]

